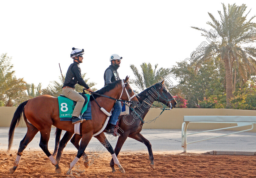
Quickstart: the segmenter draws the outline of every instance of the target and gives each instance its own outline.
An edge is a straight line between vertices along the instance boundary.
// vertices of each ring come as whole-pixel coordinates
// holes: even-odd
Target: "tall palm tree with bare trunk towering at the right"
[[[195,70],[197,70],[204,61],[216,57],[221,58],[225,66],[226,103],[229,108],[230,99],[233,97],[234,62],[245,80],[247,79],[246,73],[256,72],[256,48],[252,46],[256,40],[256,24],[251,22],[255,16],[246,21],[250,12],[245,14],[246,5],[228,5],[228,10],[223,3],[222,6],[223,13],[218,11],[220,21],[208,12],[212,22],[207,22],[207,24],[211,25],[214,31],[192,27],[203,31],[202,35],[211,39],[212,42],[201,51],[194,52],[191,59],[194,60]]]

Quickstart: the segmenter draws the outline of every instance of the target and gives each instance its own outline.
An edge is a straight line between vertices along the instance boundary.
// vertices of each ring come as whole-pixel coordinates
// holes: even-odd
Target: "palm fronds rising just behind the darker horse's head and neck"
[[[136,79],[131,79],[131,83],[135,84],[140,91],[152,86],[153,84],[159,82],[161,79],[164,79],[171,73],[171,69],[160,68],[157,69],[158,64],[155,65],[155,69],[152,69],[152,65],[150,63],[143,62],[140,67],[142,73],[139,72],[135,65],[131,64],[130,68],[133,71]],[[168,82],[165,83],[166,85]]]

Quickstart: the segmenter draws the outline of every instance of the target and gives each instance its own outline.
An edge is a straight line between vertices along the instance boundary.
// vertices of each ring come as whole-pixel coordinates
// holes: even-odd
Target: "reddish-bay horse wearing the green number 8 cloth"
[[[136,97],[133,97],[135,96],[135,94],[129,85],[128,79],[129,77],[126,76],[126,79],[124,80],[117,80],[115,82],[112,82],[111,84],[98,90],[97,93],[104,94],[105,96],[110,96],[115,99],[131,99],[134,106],[138,106],[138,99]],[[123,92],[124,90],[126,91]],[[73,162],[69,164],[69,171],[67,172],[69,174],[71,173],[76,162],[84,153],[84,150],[86,149],[86,146],[91,140],[93,134],[102,130],[102,126],[107,119],[107,115],[103,113],[103,111],[101,111],[102,108],[100,108],[99,106],[104,107],[105,111],[109,113],[115,104],[114,99],[109,99],[107,97],[102,97],[98,95],[95,95],[94,98],[94,100],[91,99],[92,119],[86,120],[81,124],[82,141],[78,148],[76,158],[73,160]],[[27,133],[23,140],[21,140],[20,142],[17,157],[13,164],[13,168],[10,169],[10,173],[15,172],[17,166],[19,165],[20,157],[22,156],[23,150],[27,147],[28,143],[30,143],[30,141],[34,138],[38,131],[41,134],[39,146],[48,156],[51,163],[56,167],[55,172],[61,173],[59,164],[54,159],[52,154],[48,151],[48,141],[50,137],[51,126],[53,125],[59,129],[74,133],[74,125],[71,123],[71,121],[60,121],[58,99],[50,95],[42,95],[29,99],[18,106],[12,118],[11,126],[9,129],[8,151],[11,149],[12,146],[14,129],[21,122],[22,115],[27,125]],[[115,159],[115,164],[119,167],[119,171],[125,173],[104,133],[101,132],[99,135],[96,136],[96,138],[100,140],[100,142],[111,153],[111,155]]]

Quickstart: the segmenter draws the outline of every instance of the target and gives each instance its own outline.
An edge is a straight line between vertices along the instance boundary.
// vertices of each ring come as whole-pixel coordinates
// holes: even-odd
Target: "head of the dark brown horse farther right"
[[[165,80],[162,82],[156,83],[154,86],[154,89],[156,90],[157,93],[157,101],[162,102],[166,106],[170,108],[175,108],[177,105],[176,100],[172,97],[171,93],[167,90],[165,84]]]

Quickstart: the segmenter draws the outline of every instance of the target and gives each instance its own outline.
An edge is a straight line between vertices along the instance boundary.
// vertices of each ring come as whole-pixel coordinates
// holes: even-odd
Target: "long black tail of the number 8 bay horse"
[[[10,129],[9,129],[9,144],[8,144],[8,152],[12,147],[12,141],[13,141],[13,134],[14,134],[14,129],[16,128],[16,126],[18,126],[21,122],[21,116],[22,113],[24,114],[24,107],[27,104],[28,100],[21,103],[18,108],[16,109],[13,117],[12,117],[12,122],[10,125]],[[24,114],[25,116],[25,114]]]

